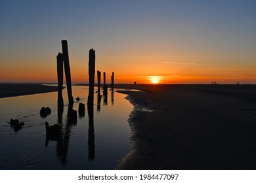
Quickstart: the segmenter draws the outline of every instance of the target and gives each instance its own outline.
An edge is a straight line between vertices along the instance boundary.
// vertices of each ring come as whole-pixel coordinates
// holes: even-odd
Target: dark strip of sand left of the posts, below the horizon
[[[36,93],[47,93],[58,91],[57,86],[46,86],[43,84],[9,84],[0,83],[0,98],[15,97],[20,95],[32,95]]]

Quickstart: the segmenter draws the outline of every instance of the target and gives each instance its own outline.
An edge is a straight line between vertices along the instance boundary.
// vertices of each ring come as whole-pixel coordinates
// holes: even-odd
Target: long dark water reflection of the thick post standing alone
[[[89,92],[88,95],[88,118],[89,118],[89,129],[88,129],[88,159],[91,161],[95,159],[95,127],[93,119],[93,93]]]

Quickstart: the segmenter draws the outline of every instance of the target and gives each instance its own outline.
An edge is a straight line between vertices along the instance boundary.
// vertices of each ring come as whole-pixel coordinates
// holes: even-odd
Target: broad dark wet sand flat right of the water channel
[[[115,85],[135,105],[117,169],[256,169],[255,85]],[[121,91],[119,91],[121,92]]]

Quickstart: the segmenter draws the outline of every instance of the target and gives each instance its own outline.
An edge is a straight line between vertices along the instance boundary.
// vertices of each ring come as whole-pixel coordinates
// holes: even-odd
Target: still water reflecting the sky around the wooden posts
[[[93,131],[89,129],[87,112],[87,86],[72,86],[74,103],[85,104],[85,116],[77,123],[68,124],[68,97],[63,90],[64,112],[58,115],[57,92],[25,95],[0,99],[0,169],[115,169],[117,163],[130,150],[131,130],[127,119],[133,105],[126,95],[114,92],[97,103],[94,96]],[[52,112],[41,118],[41,107]],[[14,131],[10,120],[24,122]],[[92,118],[92,117],[91,117]],[[45,122],[62,127],[62,138],[47,143]]]

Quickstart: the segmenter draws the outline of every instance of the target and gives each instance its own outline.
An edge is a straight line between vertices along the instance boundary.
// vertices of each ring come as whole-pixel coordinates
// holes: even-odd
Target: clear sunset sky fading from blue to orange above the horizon
[[[0,1],[0,82],[57,82],[68,41],[72,82],[256,84],[254,0]]]

